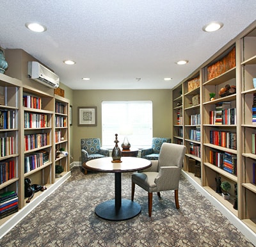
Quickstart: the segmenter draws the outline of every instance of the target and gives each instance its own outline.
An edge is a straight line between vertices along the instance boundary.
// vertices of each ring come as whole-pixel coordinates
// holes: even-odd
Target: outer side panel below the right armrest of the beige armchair
[[[180,171],[178,166],[161,166],[155,179],[157,191],[179,189]]]

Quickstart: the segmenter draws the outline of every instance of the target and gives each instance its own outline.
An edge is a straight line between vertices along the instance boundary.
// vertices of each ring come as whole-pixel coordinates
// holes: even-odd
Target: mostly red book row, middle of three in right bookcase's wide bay
[[[210,131],[210,143],[225,147],[225,148],[237,148],[237,134],[228,131]]]

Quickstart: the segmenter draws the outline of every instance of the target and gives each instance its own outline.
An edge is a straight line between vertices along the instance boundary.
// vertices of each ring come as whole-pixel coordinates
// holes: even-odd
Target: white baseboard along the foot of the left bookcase
[[[41,193],[39,196],[36,196],[36,198],[33,198],[31,202],[29,202],[25,207],[20,209],[18,212],[13,214],[12,218],[8,219],[6,222],[3,223],[3,225],[0,226],[0,239],[10,232],[17,223],[19,223],[24,217],[26,217],[29,212],[31,212],[35,207],[40,204],[42,201],[47,198],[47,196],[51,195],[53,191],[55,191],[65,180],[70,177],[71,172],[68,171],[65,173],[60,179],[58,179],[54,184],[52,184],[51,187],[47,187],[47,189]]]

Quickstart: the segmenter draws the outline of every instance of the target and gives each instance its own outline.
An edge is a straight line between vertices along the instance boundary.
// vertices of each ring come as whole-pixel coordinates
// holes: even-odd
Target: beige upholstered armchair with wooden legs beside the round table
[[[174,190],[175,205],[179,209],[179,180],[186,147],[174,143],[163,143],[158,161],[151,161],[152,166],[132,174],[132,201],[135,184],[148,191],[148,216],[152,214],[153,192],[161,197],[160,191]]]

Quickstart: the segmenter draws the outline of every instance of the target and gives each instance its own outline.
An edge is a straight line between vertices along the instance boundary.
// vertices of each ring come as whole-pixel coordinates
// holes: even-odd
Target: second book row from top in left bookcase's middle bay
[[[25,128],[46,128],[48,127],[48,115],[40,113],[24,113]]]

